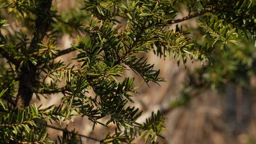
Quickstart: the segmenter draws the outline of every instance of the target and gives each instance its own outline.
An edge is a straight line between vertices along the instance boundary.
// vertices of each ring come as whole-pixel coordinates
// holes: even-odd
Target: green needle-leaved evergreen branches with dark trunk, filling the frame
[[[201,83],[191,75],[191,91],[221,87],[225,81],[243,83],[244,74],[249,77],[254,72],[255,50],[247,45],[256,42],[255,0],[77,0],[83,7],[66,11],[58,11],[52,3],[0,0],[0,56],[6,61],[0,68],[1,144],[76,144],[82,143],[81,137],[106,144],[130,144],[137,137],[157,143],[158,137],[164,138],[160,133],[165,130],[165,117],[158,111],[145,123],[136,122],[142,112],[128,106],[137,93],[134,78],[123,76],[130,70],[146,84],[165,81],[160,70],[141,56],[145,53],[174,58],[178,64],[201,61],[204,66],[197,71]],[[176,18],[184,9],[189,14]],[[9,24],[10,17],[20,31]],[[201,34],[178,25],[173,28],[191,18],[198,18]],[[66,33],[79,35],[77,42],[60,50],[56,42]],[[55,60],[73,51],[78,52],[72,58],[77,64]],[[60,87],[60,82],[65,86]],[[88,90],[95,97],[89,97]],[[173,107],[189,99],[187,91]],[[48,108],[29,104],[33,94],[40,100],[55,93],[62,93],[62,104]],[[98,140],[51,125],[51,121],[72,121],[74,116],[87,117],[93,128],[113,123],[116,132]],[[101,123],[103,117],[110,117],[109,121]],[[63,135],[52,141],[46,127]]]

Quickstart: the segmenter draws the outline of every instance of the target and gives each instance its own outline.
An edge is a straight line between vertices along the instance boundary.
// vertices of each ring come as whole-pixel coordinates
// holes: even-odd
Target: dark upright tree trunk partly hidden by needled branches
[[[52,6],[52,0],[40,0],[36,9],[37,19],[35,22],[35,29],[33,32],[33,38],[29,45],[29,52],[33,53],[39,50],[38,43],[40,43],[51,22],[50,9]],[[33,96],[33,88],[38,85],[37,66],[32,62],[22,65],[19,75],[19,87],[16,99],[16,107],[24,108],[29,106],[29,102]]]

